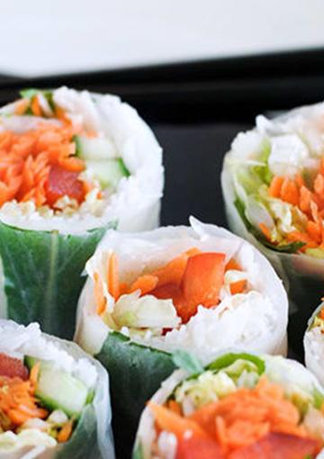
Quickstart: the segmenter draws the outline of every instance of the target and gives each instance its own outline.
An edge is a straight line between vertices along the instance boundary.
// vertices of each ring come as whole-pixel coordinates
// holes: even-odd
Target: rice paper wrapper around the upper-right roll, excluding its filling
[[[305,139],[314,151],[322,151],[323,139],[319,132],[314,129],[313,120],[324,119],[324,103],[305,106],[287,112],[275,120],[268,121],[264,117],[257,117],[257,128],[249,132],[261,131],[270,135],[287,134],[297,131]],[[241,156],[251,153],[251,149],[242,148]],[[238,154],[238,152],[236,152]],[[234,202],[237,199],[233,178],[229,170],[229,151],[223,163],[221,172],[221,188],[225,202],[225,210],[229,222],[229,228],[241,238],[247,239],[257,247],[272,266],[277,274],[283,279],[288,292],[290,302],[291,330],[290,345],[294,350],[302,353],[302,337],[312,311],[319,303],[319,298],[324,295],[324,259],[309,257],[304,254],[280,253],[265,247],[246,228]]]

